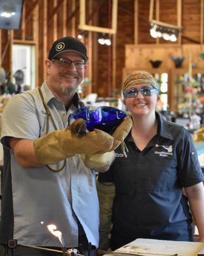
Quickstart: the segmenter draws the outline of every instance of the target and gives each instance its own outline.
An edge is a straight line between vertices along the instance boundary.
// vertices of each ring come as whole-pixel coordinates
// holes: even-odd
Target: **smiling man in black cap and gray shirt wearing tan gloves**
[[[81,134],[83,122],[77,128],[79,134],[68,127],[70,114],[84,106],[77,88],[84,79],[87,60],[85,45],[77,39],[66,36],[55,41],[45,60],[47,80],[41,88],[15,95],[8,102],[1,131],[0,255],[57,255],[22,244],[57,250],[82,244],[84,252],[88,242],[98,246],[95,173],[87,166],[95,163],[91,160],[94,154],[99,160],[105,154],[98,171],[107,170],[119,143],[99,130]],[[71,125],[77,131],[78,123]],[[51,224],[62,232],[64,243],[48,231]],[[13,249],[12,239],[18,243]]]

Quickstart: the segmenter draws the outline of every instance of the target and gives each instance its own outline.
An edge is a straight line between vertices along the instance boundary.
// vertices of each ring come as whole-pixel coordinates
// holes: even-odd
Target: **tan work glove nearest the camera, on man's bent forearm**
[[[33,141],[34,152],[42,164],[55,164],[75,154],[100,154],[112,148],[113,137],[95,129],[85,132],[85,121],[80,118],[66,130],[50,132]]]

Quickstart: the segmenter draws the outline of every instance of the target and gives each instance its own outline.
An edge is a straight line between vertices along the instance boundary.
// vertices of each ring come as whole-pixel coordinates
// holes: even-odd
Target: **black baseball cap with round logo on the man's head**
[[[58,54],[62,52],[77,52],[85,61],[89,60],[87,57],[87,49],[85,45],[73,38],[72,36],[66,36],[56,40],[49,51],[48,59],[53,60]]]

